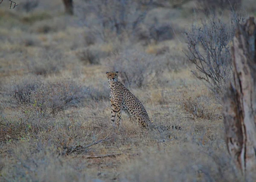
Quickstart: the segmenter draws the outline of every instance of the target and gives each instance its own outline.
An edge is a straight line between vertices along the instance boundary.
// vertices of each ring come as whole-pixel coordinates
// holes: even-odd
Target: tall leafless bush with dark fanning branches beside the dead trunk
[[[222,95],[221,91],[230,77],[230,43],[239,21],[241,18],[237,14],[233,14],[230,24],[213,16],[209,22],[201,20],[202,26],[192,25],[186,31],[188,53],[185,54],[197,69],[192,73],[207,82],[217,95]]]

